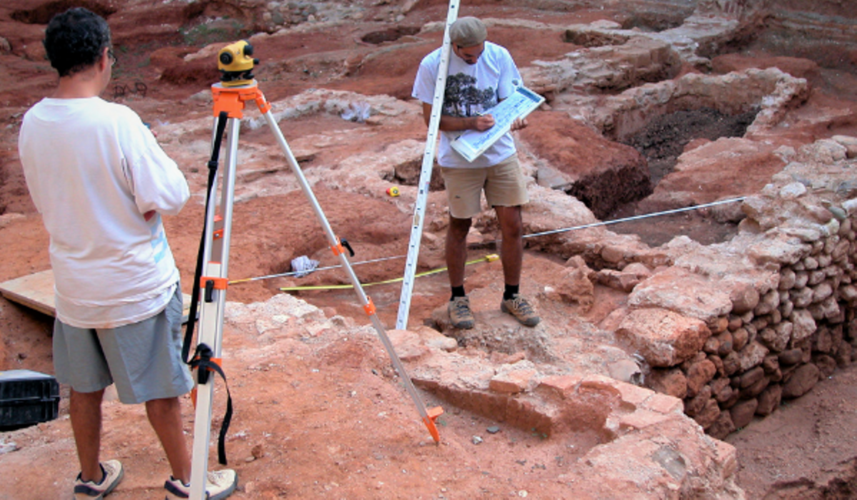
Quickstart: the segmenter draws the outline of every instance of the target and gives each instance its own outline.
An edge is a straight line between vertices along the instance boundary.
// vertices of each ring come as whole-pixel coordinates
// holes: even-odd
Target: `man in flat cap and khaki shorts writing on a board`
[[[453,54],[440,117],[438,164],[446,183],[450,213],[446,231],[446,265],[452,288],[448,306],[450,320],[455,328],[470,329],[475,324],[470,301],[464,291],[464,265],[467,233],[472,217],[482,209],[484,191],[488,205],[497,214],[503,238],[500,261],[505,289],[500,310],[512,314],[521,324],[535,326],[540,318],[530,301],[519,293],[524,257],[521,205],[527,203],[529,197],[510,134],[512,130],[526,127],[527,122],[514,120],[509,131],[497,137],[484,152],[471,158],[472,161],[452,147],[452,141],[464,131],[485,132],[494,127],[494,116],[484,111],[512,96],[520,86],[521,75],[506,48],[486,40],[488,30],[475,17],[462,17],[452,23],[449,36]],[[413,97],[423,102],[427,125],[440,57],[440,49],[424,57],[414,83]]]

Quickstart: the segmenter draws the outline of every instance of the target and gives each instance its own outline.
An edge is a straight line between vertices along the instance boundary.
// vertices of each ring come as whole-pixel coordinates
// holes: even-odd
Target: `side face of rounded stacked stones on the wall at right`
[[[836,220],[830,215],[827,223]],[[837,366],[851,362],[857,332],[848,328],[857,298],[851,283],[857,256],[852,224],[844,218],[830,224],[839,226],[836,234],[800,245],[806,255],[782,263],[776,289],[755,304],[736,304],[727,327],[712,330],[704,354],[716,366],[709,386],[722,412],[708,427],[712,435],[725,436],[754,415],[771,414],[782,399],[803,396]],[[697,406],[695,398],[686,400],[687,413],[707,424],[710,415]]]

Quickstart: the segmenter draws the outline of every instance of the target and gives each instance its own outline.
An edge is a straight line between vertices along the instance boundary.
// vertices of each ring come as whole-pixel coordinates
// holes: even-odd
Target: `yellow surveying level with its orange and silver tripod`
[[[189,498],[192,500],[205,500],[207,497],[205,487],[215,378],[208,377],[207,373],[204,372],[217,372],[225,379],[225,375],[223,375],[222,368],[220,367],[222,362],[220,351],[223,338],[225,296],[229,284],[227,274],[231,240],[232,206],[234,202],[233,194],[235,193],[237,170],[238,134],[241,128],[243,110],[249,101],[255,102],[262,115],[265,116],[268,128],[271,129],[276,137],[280,149],[288,160],[292,173],[297,178],[297,182],[301,186],[303,193],[313,206],[315,216],[318,218],[322,229],[324,229],[327,235],[327,241],[333,250],[333,254],[339,257],[342,267],[348,272],[355,292],[357,292],[357,297],[363,306],[363,311],[369,315],[381,339],[381,343],[387,349],[387,354],[389,354],[393,366],[399,373],[402,383],[405,384],[405,389],[417,406],[417,411],[423,419],[423,424],[428,428],[428,432],[434,438],[434,442],[440,443],[440,436],[437,426],[434,425],[434,420],[440,414],[443,414],[443,409],[440,407],[431,408],[430,410],[426,409],[417,393],[417,389],[414,387],[413,382],[411,382],[411,378],[405,372],[405,366],[402,366],[402,361],[399,360],[399,356],[393,348],[393,342],[390,342],[381,324],[381,319],[378,318],[375,312],[375,304],[363,292],[363,285],[351,268],[348,256],[346,255],[347,243],[333,234],[333,229],[331,229],[330,224],[327,222],[327,217],[321,211],[321,206],[318,204],[318,200],[315,199],[315,194],[309,186],[309,182],[303,176],[303,172],[297,164],[297,159],[292,154],[289,145],[285,142],[283,133],[273,117],[271,104],[262,95],[256,81],[252,77],[249,77],[249,71],[253,68],[253,64],[258,62],[258,60],[250,59],[248,57],[250,55],[252,55],[252,46],[245,41],[227,45],[219,51],[219,68],[223,72],[224,78],[228,76],[231,80],[224,80],[212,86],[214,126],[212,130],[212,158],[208,162],[206,220],[197,261],[197,276],[194,280],[195,288],[192,295],[194,299],[192,300],[192,309],[189,315],[191,319],[194,318],[193,312],[195,312],[194,307],[197,303],[197,297],[200,291],[204,290],[204,298],[198,301],[200,304],[200,331],[196,351],[197,353],[204,352],[205,354],[201,355],[204,358],[204,364],[199,361],[196,362],[196,366],[199,367],[196,368],[198,383],[195,399],[194,447],[190,471]],[[220,174],[223,179],[223,186],[220,190],[220,203],[218,206],[216,200],[219,177],[217,165],[220,144],[224,134],[226,136],[225,171]],[[353,255],[351,248],[347,247],[347,249],[348,253]],[[190,325],[191,323],[189,322],[189,330],[185,332],[186,344],[189,343],[189,333],[193,333]],[[183,348],[183,354],[185,350]],[[227,403],[227,412],[231,415],[231,403]],[[226,418],[224,418],[224,422],[226,422]],[[225,437],[224,434],[224,429],[221,428],[221,447]],[[225,460],[221,461],[221,463],[225,463]]]

